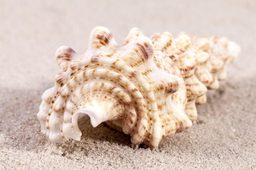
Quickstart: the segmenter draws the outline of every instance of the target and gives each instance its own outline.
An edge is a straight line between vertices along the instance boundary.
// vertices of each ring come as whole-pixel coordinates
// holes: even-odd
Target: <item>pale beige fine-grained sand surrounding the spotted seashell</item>
[[[255,0],[51,1],[0,0],[0,169],[256,169]],[[54,84],[55,51],[67,45],[84,52],[98,25],[118,43],[135,26],[148,36],[226,35],[242,53],[198,107],[198,123],[154,151],[132,148],[129,136],[86,119],[81,141],[52,145],[36,115]]]

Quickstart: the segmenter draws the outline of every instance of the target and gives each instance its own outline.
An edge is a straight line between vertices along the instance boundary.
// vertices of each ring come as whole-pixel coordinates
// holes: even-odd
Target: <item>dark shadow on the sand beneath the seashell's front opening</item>
[[[62,156],[70,158],[69,155],[76,152],[88,155],[95,150],[104,150],[106,145],[129,147],[131,144],[130,136],[112,130],[103,123],[94,128],[87,115],[79,116],[78,125],[82,133],[80,141],[69,139],[65,143],[57,145],[61,147]]]

